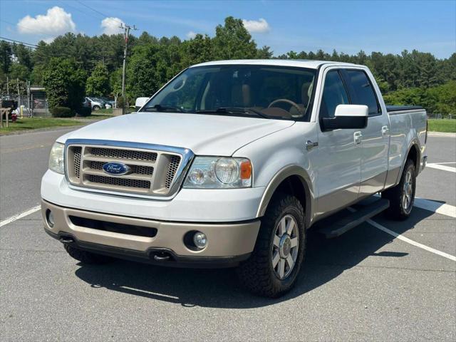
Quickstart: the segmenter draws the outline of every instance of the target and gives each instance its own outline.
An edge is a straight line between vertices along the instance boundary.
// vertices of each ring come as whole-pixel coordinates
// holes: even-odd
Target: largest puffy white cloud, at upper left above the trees
[[[59,36],[68,31],[76,31],[76,24],[71,19],[71,14],[64,9],[54,6],[48,9],[46,15],[38,14],[35,18],[24,16],[17,23],[20,33],[45,34],[48,36]]]

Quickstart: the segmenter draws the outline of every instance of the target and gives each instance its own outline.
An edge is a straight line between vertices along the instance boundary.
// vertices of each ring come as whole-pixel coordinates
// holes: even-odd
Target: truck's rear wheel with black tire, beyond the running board
[[[411,185],[407,182],[408,173],[410,172]],[[410,187],[409,187],[410,186]],[[415,188],[416,188],[416,170],[413,160],[407,160],[405,167],[400,175],[400,182],[395,187],[382,192],[382,198],[390,200],[390,207],[386,210],[385,214],[388,218],[403,220],[410,216],[415,202]],[[411,191],[410,202],[404,202],[406,189]]]

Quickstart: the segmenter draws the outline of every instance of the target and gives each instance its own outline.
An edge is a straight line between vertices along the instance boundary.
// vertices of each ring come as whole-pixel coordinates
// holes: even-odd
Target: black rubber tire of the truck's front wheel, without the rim
[[[298,250],[294,266],[289,268],[289,275],[279,279],[272,266],[274,237],[279,222],[284,217],[293,217],[297,226]],[[237,268],[241,283],[253,294],[277,298],[284,295],[296,283],[306,252],[306,229],[304,209],[296,197],[290,195],[275,196],[269,204],[266,214],[261,218],[261,227],[252,255]]]

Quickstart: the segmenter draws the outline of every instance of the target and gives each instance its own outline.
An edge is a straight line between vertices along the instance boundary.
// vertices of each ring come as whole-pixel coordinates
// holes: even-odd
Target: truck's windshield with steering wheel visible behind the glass
[[[316,71],[281,66],[188,68],[142,111],[308,120]]]

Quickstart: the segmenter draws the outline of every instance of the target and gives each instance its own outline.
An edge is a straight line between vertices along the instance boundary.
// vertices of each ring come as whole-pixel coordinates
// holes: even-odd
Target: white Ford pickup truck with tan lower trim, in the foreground
[[[326,237],[385,209],[408,217],[425,167],[425,110],[386,106],[366,66],[202,63],[137,105],[52,147],[44,227],[83,263],[237,266],[247,289],[280,296],[306,229],[377,193]]]

